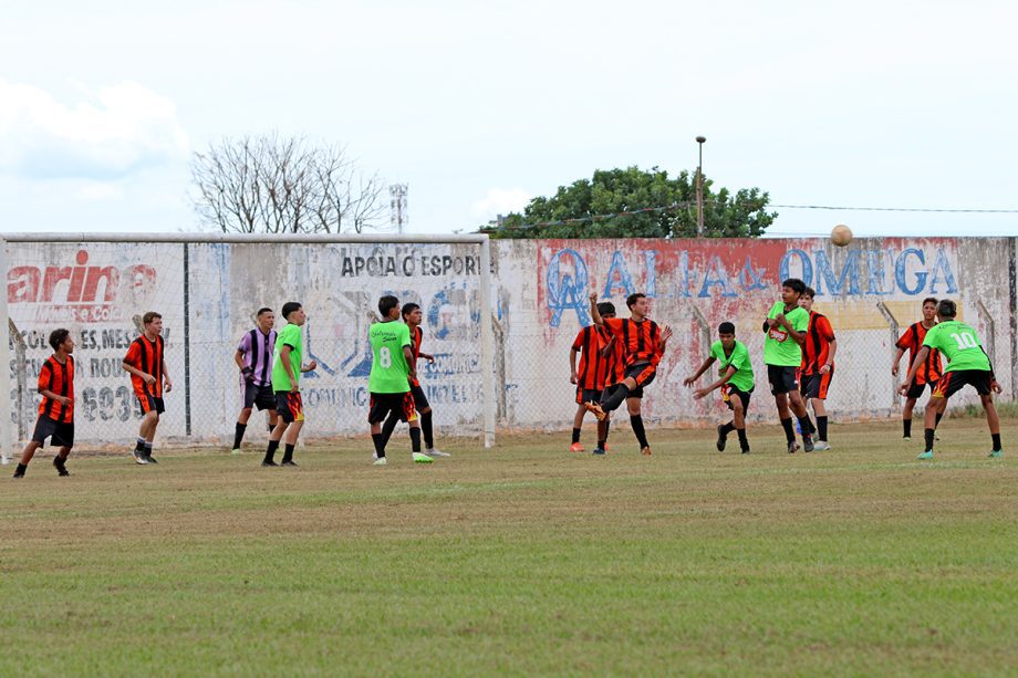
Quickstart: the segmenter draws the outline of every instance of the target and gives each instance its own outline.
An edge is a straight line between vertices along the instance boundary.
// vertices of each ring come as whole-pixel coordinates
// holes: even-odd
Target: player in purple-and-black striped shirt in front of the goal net
[[[258,325],[247,332],[237,346],[233,362],[243,375],[243,408],[237,417],[233,431],[233,453],[240,453],[240,442],[248,428],[251,409],[269,410],[269,432],[278,424],[276,393],[272,390],[272,357],[276,354],[276,313],[272,309],[258,310]]]

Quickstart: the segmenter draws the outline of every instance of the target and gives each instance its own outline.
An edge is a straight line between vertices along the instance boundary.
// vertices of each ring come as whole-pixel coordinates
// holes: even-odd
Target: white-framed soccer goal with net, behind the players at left
[[[9,233],[0,239],[0,270],[8,282],[0,326],[13,320],[28,338],[20,369],[28,383],[21,387],[34,393],[49,332],[72,331],[75,437],[83,441],[112,444],[136,429],[138,413],[120,362],[141,314],[155,310],[165,316],[174,380],[160,436],[224,444],[239,410],[237,343],[258,307],[278,314],[285,301],[308,309],[305,356],[319,363],[301,379],[309,432],[361,435],[367,316],[378,296],[392,293],[424,312],[423,351],[436,362],[422,361],[418,372],[439,434],[479,435],[486,448],[495,445],[495,319],[485,234]],[[278,317],[277,328],[283,324]],[[0,342],[6,394],[18,386],[10,345]],[[0,418],[4,462],[18,453],[14,423]]]

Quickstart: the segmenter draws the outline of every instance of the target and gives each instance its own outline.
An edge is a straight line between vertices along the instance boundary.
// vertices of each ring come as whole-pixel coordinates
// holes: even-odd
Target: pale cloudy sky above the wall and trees
[[[225,136],[343,144],[411,232],[638,165],[778,205],[1018,209],[1014,3],[0,0],[2,231],[194,230]],[[779,209],[776,233],[1018,215]]]

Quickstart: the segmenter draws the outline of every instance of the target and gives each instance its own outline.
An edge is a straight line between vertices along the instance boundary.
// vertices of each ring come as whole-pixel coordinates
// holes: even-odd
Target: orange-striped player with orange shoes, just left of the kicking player
[[[611,302],[598,304],[598,311],[604,320],[615,317],[615,304]],[[610,342],[611,335],[604,327],[590,325],[580,330],[576,338],[573,340],[572,348],[569,350],[569,382],[576,386],[576,414],[573,416],[572,445],[569,446],[571,452],[583,451],[583,446],[580,444],[583,415],[586,414],[583,405],[601,400],[601,392],[604,390],[611,359],[610,353],[605,355],[606,350],[610,348]],[[576,354],[580,355],[579,371],[576,369]],[[604,453],[603,444],[607,439],[609,423],[607,418],[598,421],[598,447],[594,448],[594,453]]]

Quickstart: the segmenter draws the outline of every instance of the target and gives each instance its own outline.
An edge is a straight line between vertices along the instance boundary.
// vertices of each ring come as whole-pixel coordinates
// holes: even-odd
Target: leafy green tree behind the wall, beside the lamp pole
[[[767,211],[769,199],[759,188],[715,191],[705,178],[704,234],[761,236],[778,216]],[[599,169],[593,178],[560,186],[554,196],[534,198],[522,213],[480,231],[492,238],[695,238],[695,174],[669,178],[657,167]]]

